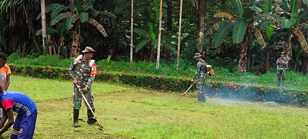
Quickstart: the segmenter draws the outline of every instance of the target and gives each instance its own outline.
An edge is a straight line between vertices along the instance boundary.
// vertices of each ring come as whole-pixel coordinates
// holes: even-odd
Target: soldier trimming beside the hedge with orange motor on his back
[[[201,103],[205,103],[205,91],[203,88],[204,81],[206,79],[206,70],[212,66],[208,65],[202,58],[200,53],[196,53],[193,58],[196,58],[197,63],[197,70],[195,73],[195,77],[191,80],[194,82],[197,80],[197,92],[198,92],[198,101]]]

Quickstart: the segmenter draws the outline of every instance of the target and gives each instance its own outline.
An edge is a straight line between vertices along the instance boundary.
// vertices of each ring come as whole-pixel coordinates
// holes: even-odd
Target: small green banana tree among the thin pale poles
[[[143,40],[140,41],[135,48],[135,52],[141,50],[144,46],[149,46],[149,49],[151,50],[149,63],[152,63],[154,49],[156,49],[158,46],[158,39],[156,39],[156,36],[158,36],[159,26],[157,26],[157,24],[153,24],[152,22],[148,22],[148,27],[149,32],[140,28],[136,28],[133,30],[135,33],[139,34],[143,38]],[[173,37],[164,37],[161,38],[161,40],[177,42],[177,39]],[[177,53],[176,49],[171,45],[171,43],[161,42],[161,45],[164,46],[166,49],[171,50],[172,54]]]

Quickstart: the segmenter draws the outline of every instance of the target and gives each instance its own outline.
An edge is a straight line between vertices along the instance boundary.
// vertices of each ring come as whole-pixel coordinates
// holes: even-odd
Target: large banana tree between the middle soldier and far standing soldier
[[[221,45],[222,40],[232,31],[233,43],[239,43],[240,48],[240,59],[238,62],[240,72],[246,72],[249,34],[252,33],[255,40],[262,45],[262,48],[265,48],[266,43],[259,29],[270,25],[280,26],[279,17],[271,13],[261,13],[262,9],[259,7],[266,3],[263,0],[255,0],[243,4],[240,0],[230,0],[230,2],[237,16],[235,17],[226,12],[214,14],[213,17],[217,19],[213,21],[213,26],[206,30],[205,35],[216,31],[212,41],[212,48],[217,48]],[[255,23],[258,23],[258,25],[256,26]]]

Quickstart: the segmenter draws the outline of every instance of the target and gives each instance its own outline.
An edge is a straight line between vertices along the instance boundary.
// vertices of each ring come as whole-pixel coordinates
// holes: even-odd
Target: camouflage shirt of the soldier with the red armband
[[[76,59],[76,58],[75,58]],[[68,72],[72,78],[76,77],[79,84],[85,85],[88,89],[90,89],[95,75],[90,75],[91,67],[90,61],[83,61],[82,58],[74,65],[74,61],[72,62]]]

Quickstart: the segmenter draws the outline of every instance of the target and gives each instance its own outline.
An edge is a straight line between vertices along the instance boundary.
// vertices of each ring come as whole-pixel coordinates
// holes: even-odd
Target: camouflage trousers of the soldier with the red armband
[[[80,89],[83,89],[85,86],[84,85],[80,85]],[[92,95],[92,89],[90,87],[90,89],[88,89],[87,92],[83,93],[84,97],[86,97],[86,100],[88,101],[91,109],[94,109],[94,98]],[[77,88],[76,85],[74,85],[74,93],[73,93],[73,108],[74,109],[80,109],[81,108],[81,101],[83,100],[82,94],[79,91],[79,89]],[[84,102],[84,105],[87,106],[87,109],[90,109],[89,106],[87,105],[86,102]]]

